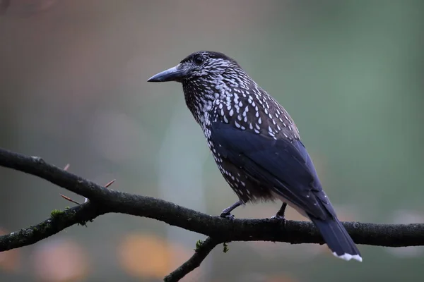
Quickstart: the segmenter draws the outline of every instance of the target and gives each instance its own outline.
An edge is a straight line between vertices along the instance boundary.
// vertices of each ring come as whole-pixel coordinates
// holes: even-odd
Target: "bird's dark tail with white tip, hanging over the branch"
[[[329,246],[334,256],[346,261],[355,259],[358,262],[362,262],[358,248],[338,219],[322,220],[311,216],[311,220],[319,229],[322,238],[324,238],[325,243]]]

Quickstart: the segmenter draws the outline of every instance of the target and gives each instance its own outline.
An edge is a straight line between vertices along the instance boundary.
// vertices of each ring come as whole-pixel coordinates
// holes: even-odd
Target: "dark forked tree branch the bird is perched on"
[[[104,188],[57,166],[47,164],[39,157],[27,157],[6,149],[0,149],[0,166],[38,176],[90,199],[90,202],[66,209],[64,212],[52,212],[49,219],[36,226],[0,236],[0,252],[37,243],[64,228],[78,223],[85,224],[97,216],[110,212],[157,219],[172,226],[211,237],[196,249],[189,261],[167,276],[167,281],[178,281],[199,266],[213,247],[223,242],[261,240],[291,244],[324,243],[317,229],[308,221],[286,221],[285,225],[273,219],[229,221],[219,216],[202,214],[172,202]],[[344,222],[343,226],[357,244],[386,247],[424,245],[423,223]]]

